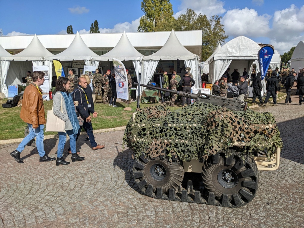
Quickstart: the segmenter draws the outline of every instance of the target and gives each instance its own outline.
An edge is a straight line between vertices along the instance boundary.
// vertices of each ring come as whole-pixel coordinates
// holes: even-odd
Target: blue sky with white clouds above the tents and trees
[[[231,40],[247,36],[271,43],[281,54],[304,40],[304,1],[274,0],[171,0],[175,17],[187,8],[223,17]],[[88,33],[96,19],[102,33],[136,32],[143,16],[140,0],[58,1],[0,0],[0,28],[4,35]],[[284,28],[284,30],[282,29]]]

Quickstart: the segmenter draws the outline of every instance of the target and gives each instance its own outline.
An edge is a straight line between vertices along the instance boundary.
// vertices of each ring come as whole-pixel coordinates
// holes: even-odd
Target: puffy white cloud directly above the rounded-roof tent
[[[269,19],[271,16],[259,16],[254,9],[232,9],[223,16],[225,32],[229,36],[265,36],[269,32]]]

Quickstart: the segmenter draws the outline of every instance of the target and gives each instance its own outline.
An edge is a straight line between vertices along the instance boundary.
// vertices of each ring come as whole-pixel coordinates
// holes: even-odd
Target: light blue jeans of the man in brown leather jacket
[[[26,146],[27,143],[29,143],[30,140],[36,137],[36,147],[38,150],[38,154],[40,157],[43,157],[45,154],[44,147],[43,147],[43,139],[44,139],[44,125],[40,124],[39,127],[36,129],[33,129],[32,124],[27,124],[29,127],[29,134],[22,140],[22,142],[19,144],[16,150],[19,152],[22,152],[24,150],[24,147]]]

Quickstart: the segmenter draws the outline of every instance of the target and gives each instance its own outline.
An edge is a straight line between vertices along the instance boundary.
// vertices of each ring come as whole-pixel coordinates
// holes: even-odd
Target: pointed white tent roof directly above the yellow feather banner
[[[59,59],[62,61],[69,61],[69,60],[95,60],[95,57],[99,57],[98,54],[93,52],[85,42],[82,40],[80,34],[77,32],[74,40],[70,44],[67,49],[63,52],[54,55],[53,59]]]

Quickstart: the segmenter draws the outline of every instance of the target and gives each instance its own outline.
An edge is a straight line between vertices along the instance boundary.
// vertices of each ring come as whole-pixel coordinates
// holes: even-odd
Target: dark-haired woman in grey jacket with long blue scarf
[[[74,108],[72,96],[67,92],[70,88],[70,81],[68,78],[59,77],[56,81],[56,91],[58,91],[53,98],[53,112],[54,115],[65,122],[65,132],[58,132],[59,143],[57,150],[56,165],[68,165],[70,162],[64,161],[62,154],[67,135],[70,137],[70,147],[72,151],[72,162],[82,161],[85,158],[80,157],[76,153],[76,134],[80,129],[79,121]],[[61,109],[62,103],[62,112]]]

